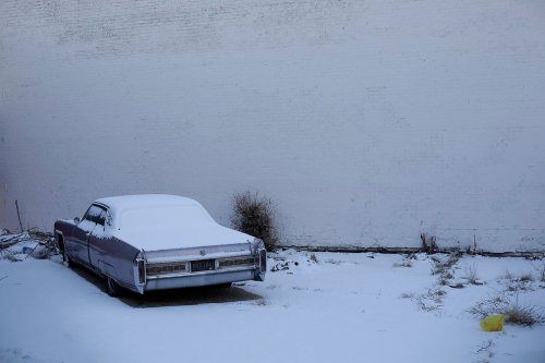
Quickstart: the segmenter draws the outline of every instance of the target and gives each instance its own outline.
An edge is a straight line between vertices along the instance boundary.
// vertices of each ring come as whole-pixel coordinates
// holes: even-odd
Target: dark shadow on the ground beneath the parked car
[[[72,270],[88,282],[95,285],[97,289],[106,293],[105,281],[102,278],[83,267],[75,266],[72,268]],[[240,301],[259,301],[263,300],[263,297],[245,291],[242,285],[238,283],[233,285],[230,288],[202,287],[148,291],[144,295],[129,290],[123,290],[118,299],[132,307],[162,307]]]

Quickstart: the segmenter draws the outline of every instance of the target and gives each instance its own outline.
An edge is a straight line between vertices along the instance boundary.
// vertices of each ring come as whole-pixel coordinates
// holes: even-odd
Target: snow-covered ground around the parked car
[[[468,312],[497,295],[543,312],[545,261],[463,256],[434,275],[446,261],[289,250],[265,282],[114,299],[59,256],[3,258],[0,362],[545,362],[545,325],[485,332]]]

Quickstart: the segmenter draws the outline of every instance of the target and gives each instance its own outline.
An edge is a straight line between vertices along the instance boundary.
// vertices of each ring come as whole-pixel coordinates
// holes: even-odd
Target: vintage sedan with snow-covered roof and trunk
[[[265,278],[262,240],[217,223],[196,201],[146,194],[95,201],[83,218],[58,220],[64,263],[102,276],[106,291],[230,286]]]

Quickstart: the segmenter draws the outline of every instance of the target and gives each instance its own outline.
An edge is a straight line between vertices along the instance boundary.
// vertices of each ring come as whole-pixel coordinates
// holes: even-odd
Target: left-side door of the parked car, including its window
[[[68,245],[68,249],[70,256],[80,264],[90,265],[89,238],[97,228],[97,221],[102,213],[105,213],[102,207],[93,204],[83,216],[82,221],[74,229],[72,243]]]

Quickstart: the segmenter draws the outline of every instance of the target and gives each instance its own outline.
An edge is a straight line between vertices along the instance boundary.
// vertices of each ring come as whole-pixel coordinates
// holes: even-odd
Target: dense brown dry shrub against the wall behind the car
[[[232,227],[261,239],[267,250],[275,250],[278,244],[278,231],[272,202],[257,193],[243,192],[235,193],[232,203]]]

